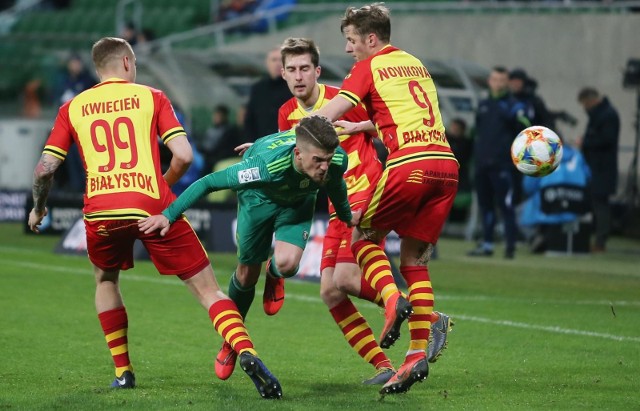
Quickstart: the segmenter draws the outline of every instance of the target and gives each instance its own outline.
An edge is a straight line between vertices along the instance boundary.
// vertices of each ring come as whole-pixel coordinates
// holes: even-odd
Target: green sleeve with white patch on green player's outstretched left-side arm
[[[206,194],[220,190],[258,188],[270,180],[271,175],[264,161],[260,157],[250,157],[195,181],[162,214],[173,223]]]

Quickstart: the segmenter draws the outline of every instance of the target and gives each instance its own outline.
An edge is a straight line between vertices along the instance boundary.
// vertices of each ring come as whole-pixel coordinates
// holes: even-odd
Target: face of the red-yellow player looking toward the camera
[[[285,57],[282,78],[287,82],[291,94],[307,107],[315,104],[318,98],[316,85],[319,76],[320,67],[313,65],[311,55]]]

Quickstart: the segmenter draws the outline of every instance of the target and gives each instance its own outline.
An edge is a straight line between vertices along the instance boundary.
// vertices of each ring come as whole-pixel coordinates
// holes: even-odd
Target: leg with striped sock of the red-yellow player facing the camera
[[[343,226],[343,227],[342,227]],[[339,228],[342,228],[340,230]],[[329,308],[331,316],[342,331],[347,343],[376,369],[376,374],[363,381],[365,385],[382,385],[394,374],[391,361],[382,352],[373,336],[373,331],[356,306],[351,295],[360,294],[360,267],[355,263],[349,248],[351,235],[344,224],[332,220],[324,238],[320,271],[320,296]],[[368,287],[368,288],[367,288]],[[342,289],[340,289],[342,288]],[[365,283],[362,287],[369,290],[370,298],[376,298],[376,292]]]

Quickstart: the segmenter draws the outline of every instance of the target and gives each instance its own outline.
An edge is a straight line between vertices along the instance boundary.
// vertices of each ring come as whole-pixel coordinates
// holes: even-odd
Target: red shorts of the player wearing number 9
[[[385,169],[360,221],[362,228],[394,230],[438,241],[458,190],[458,163],[423,159]]]

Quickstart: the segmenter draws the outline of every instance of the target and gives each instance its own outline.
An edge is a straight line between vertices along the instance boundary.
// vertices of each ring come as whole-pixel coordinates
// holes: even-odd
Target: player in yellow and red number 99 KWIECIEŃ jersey
[[[235,303],[220,291],[189,222],[181,218],[164,237],[138,229],[138,220],[160,213],[176,198],[169,187],[192,160],[187,135],[169,99],[160,90],[134,83],[135,55],[125,40],[98,40],[92,57],[100,83],[60,107],[34,171],[34,207],[28,224],[39,231],[54,172],[71,144],[77,144],[87,172],[83,214],[96,278],[95,305],[115,364],[111,386],[135,387],[119,274],[133,267],[133,243],[139,239],[160,274],[178,276],[208,311],[216,331],[240,355],[259,393],[280,398],[280,383],[257,357]],[[173,155],[164,175],[158,136]]]

